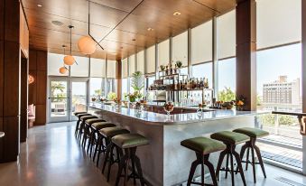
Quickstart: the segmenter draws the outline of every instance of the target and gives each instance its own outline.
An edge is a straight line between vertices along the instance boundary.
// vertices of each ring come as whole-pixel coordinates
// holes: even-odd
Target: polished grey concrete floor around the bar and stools
[[[0,186],[114,185],[116,167],[108,184],[100,169],[96,168],[76,142],[74,127],[75,122],[71,122],[30,129],[27,143],[21,145],[19,161],[0,164]],[[306,177],[300,174],[268,164],[265,167],[268,178],[264,179],[258,169],[255,184],[252,172],[247,171],[247,185],[306,185]],[[221,177],[219,185],[231,185],[231,181]],[[242,185],[238,175],[236,185]]]

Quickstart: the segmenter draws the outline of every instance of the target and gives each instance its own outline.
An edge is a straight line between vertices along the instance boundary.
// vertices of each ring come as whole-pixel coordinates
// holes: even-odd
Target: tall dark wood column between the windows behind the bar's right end
[[[236,95],[244,96],[246,110],[256,109],[256,5],[255,0],[236,6]]]

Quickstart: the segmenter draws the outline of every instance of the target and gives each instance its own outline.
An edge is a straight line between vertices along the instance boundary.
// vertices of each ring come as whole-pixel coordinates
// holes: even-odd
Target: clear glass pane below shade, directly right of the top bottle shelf
[[[192,76],[197,79],[209,79],[209,88],[212,88],[212,62],[193,65]]]

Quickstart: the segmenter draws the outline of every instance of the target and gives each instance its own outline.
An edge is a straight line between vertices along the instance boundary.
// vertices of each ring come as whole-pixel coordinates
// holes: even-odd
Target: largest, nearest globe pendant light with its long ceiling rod
[[[88,36],[83,36],[79,39],[78,47],[80,52],[90,55],[96,51],[97,45],[104,50],[103,47],[90,34],[90,1],[88,1]]]

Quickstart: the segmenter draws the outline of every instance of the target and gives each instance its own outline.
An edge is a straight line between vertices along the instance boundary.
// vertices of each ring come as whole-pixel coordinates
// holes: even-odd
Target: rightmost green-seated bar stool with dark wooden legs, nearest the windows
[[[237,128],[234,130],[234,132],[241,133],[241,134],[244,134],[250,137],[250,140],[247,141],[246,144],[244,144],[241,147],[241,151],[240,151],[241,160],[243,159],[244,154],[246,152],[246,161],[242,161],[242,163],[246,163],[246,171],[247,171],[247,165],[248,163],[250,163],[253,166],[253,179],[254,179],[254,182],[256,182],[255,164],[260,164],[262,171],[264,173],[264,178],[266,178],[262,155],[260,153],[258,146],[255,144],[255,142],[257,138],[267,136],[269,135],[269,133],[264,130],[252,128],[252,127]],[[252,161],[249,161],[250,149],[252,153]],[[258,162],[255,162],[255,153],[257,154]]]

